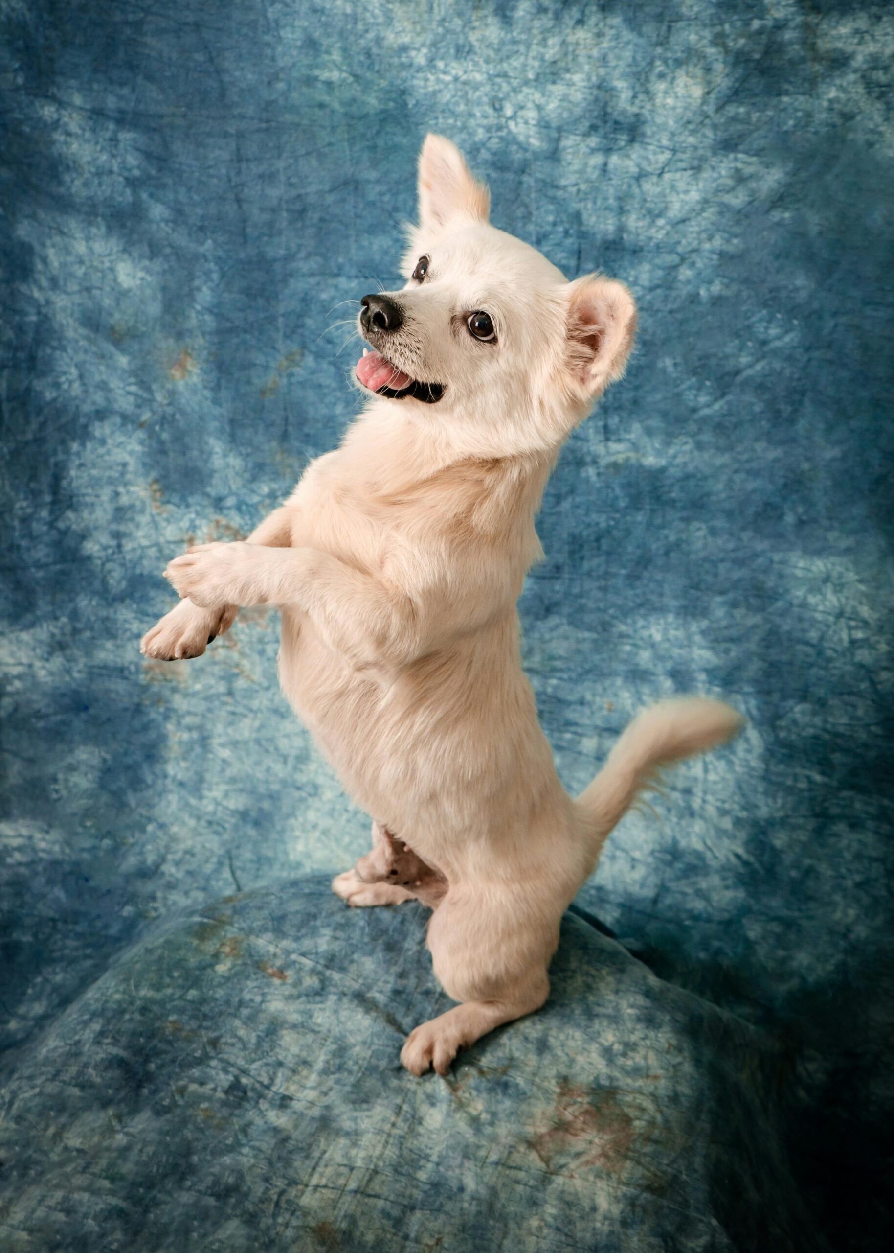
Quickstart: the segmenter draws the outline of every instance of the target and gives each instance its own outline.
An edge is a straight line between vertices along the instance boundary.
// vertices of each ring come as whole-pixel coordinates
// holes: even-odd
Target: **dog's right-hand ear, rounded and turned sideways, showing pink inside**
[[[624,373],[636,333],[636,304],[624,283],[601,274],[568,283],[567,299],[567,371],[581,400],[595,400]]]

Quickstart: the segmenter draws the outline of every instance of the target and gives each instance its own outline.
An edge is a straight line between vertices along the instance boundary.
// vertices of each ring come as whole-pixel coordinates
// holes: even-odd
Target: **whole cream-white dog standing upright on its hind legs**
[[[373,848],[333,880],[351,906],[421,900],[457,1005],[409,1034],[416,1075],[540,1009],[560,920],[660,767],[730,739],[704,698],[641,713],[576,798],[563,789],[520,657],[516,603],[543,555],[535,515],[561,445],[634,342],[627,288],[568,282],[492,227],[490,193],[428,135],[406,286],[361,301],[366,406],[244,543],[167,568],[180,604],[141,642],[199,657],[240,605],[282,613],[283,690]]]

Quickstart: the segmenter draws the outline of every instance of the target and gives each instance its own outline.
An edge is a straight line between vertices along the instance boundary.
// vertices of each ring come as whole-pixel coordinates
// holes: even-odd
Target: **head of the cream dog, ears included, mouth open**
[[[462,432],[470,451],[553,447],[624,373],[636,326],[630,292],[599,274],[570,283],[492,227],[487,188],[439,135],[422,147],[418,189],[406,287],[361,302],[373,351],[357,363],[358,382]]]

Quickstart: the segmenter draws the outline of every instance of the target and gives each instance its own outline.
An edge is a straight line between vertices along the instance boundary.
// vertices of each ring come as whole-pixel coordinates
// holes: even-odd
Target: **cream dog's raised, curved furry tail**
[[[725,744],[744,722],[727,704],[705,697],[662,700],[637,714],[575,802],[591,836],[593,865],[637,794],[656,789],[662,766]]]

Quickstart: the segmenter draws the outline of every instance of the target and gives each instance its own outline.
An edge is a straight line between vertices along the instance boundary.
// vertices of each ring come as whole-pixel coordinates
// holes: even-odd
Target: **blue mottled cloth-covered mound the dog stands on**
[[[21,1063],[0,1232],[25,1250],[815,1250],[773,1048],[580,918],[543,1012],[446,1081],[408,1078],[403,1036],[450,1005],[424,915],[357,910],[346,945],[342,903],[306,878],[159,925]]]

